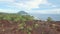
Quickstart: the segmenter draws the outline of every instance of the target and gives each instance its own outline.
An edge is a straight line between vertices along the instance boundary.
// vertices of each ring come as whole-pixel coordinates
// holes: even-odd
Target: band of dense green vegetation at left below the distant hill
[[[27,21],[27,20],[33,20],[34,17],[30,16],[28,14],[22,15],[24,12],[21,14],[19,13],[0,13],[0,20],[10,20],[10,21]]]

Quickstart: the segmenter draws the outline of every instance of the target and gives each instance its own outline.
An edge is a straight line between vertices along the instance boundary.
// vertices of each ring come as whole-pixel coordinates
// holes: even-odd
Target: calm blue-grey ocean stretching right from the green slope
[[[55,21],[60,21],[60,14],[32,14],[32,15],[40,20],[47,20],[48,17],[51,17]]]

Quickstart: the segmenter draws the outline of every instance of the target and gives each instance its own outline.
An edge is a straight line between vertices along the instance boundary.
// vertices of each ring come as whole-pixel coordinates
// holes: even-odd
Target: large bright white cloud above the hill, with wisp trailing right
[[[30,10],[32,8],[39,8],[40,4],[52,5],[51,3],[48,3],[47,0],[31,0],[31,1],[24,1],[24,2],[20,0],[20,2],[13,2],[11,5],[17,8]]]

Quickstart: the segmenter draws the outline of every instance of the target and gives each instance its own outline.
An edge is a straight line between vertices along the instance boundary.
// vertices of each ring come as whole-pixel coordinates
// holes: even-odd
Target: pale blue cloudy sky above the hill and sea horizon
[[[60,0],[0,0],[0,12],[60,14]]]

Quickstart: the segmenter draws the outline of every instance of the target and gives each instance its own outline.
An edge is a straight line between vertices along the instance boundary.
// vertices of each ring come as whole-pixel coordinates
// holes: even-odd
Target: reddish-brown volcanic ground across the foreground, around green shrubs
[[[26,30],[17,30],[20,23],[21,21],[0,20],[0,34],[28,34]],[[60,21],[25,21],[25,23],[25,28],[33,26],[34,23],[39,25],[37,28],[33,27],[31,34],[60,34]]]

